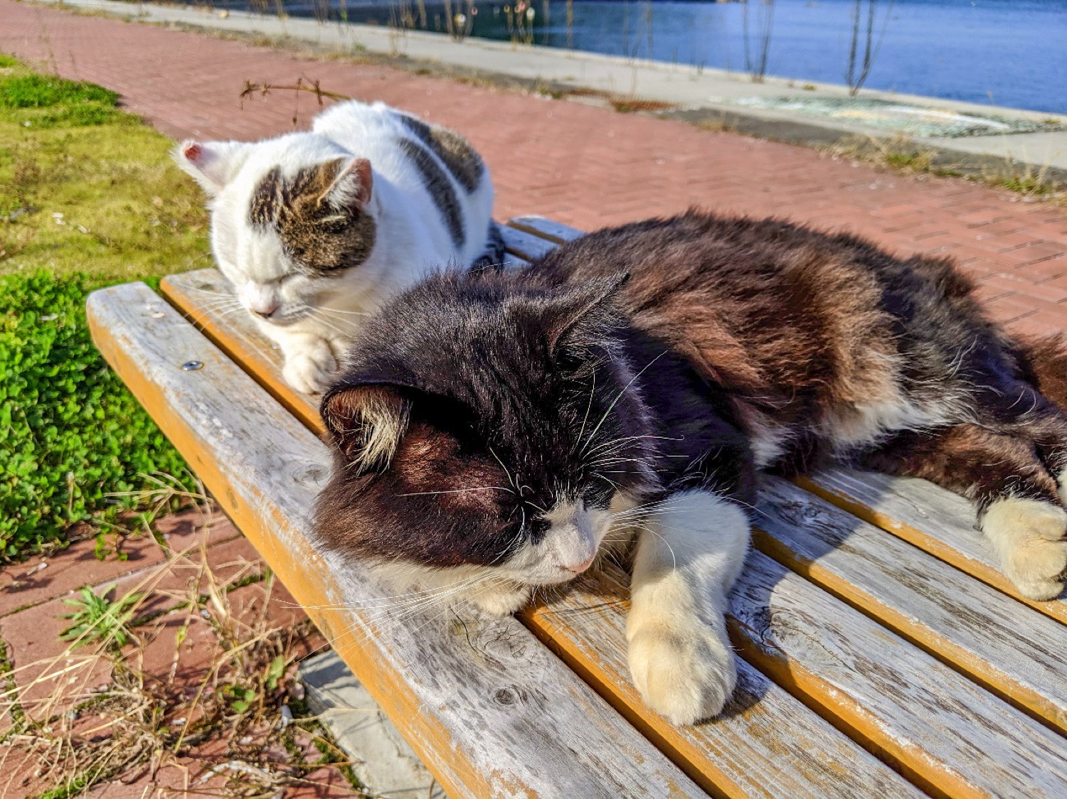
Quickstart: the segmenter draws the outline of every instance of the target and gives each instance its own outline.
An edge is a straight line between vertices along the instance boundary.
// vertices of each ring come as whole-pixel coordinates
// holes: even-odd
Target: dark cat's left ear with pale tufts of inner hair
[[[322,398],[322,420],[353,476],[388,468],[408,430],[405,390],[380,383],[341,385]]]

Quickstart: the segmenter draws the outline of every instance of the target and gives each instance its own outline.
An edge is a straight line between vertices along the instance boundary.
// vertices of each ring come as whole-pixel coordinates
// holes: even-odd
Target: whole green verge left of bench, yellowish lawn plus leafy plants
[[[124,531],[159,510],[160,475],[194,488],[85,322],[93,289],[208,252],[172,142],[117,101],[0,53],[0,562],[61,546],[78,523]]]

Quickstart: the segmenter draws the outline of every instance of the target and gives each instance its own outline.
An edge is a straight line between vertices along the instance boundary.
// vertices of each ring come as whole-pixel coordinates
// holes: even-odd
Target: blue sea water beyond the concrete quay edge
[[[447,30],[449,16],[443,2],[427,0],[216,4],[266,13],[282,4],[293,16],[431,31]],[[846,83],[857,6],[858,65],[874,11],[866,87],[1067,113],[1067,0],[451,0],[447,7],[460,20],[452,27],[474,36],[742,73],[760,71],[765,49],[767,75]]]

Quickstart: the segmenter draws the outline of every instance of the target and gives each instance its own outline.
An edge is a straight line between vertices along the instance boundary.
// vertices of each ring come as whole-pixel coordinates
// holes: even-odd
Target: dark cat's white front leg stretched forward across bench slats
[[[717,715],[733,692],[724,613],[748,543],[744,510],[710,491],[674,494],[642,520],[626,619],[630,669],[649,706],[675,724]]]

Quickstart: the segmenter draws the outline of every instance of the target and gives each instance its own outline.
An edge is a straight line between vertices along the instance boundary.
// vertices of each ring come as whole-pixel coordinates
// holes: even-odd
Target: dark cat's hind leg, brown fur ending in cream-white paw
[[[972,499],[1001,569],[1032,600],[1064,588],[1067,512],[1058,485],[1024,437],[976,425],[904,432],[861,458],[892,475],[921,477]]]

